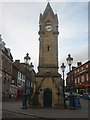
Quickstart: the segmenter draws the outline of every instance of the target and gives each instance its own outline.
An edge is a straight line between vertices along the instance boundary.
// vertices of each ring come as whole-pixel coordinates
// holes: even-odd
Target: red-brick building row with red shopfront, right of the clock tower
[[[90,93],[90,60],[82,64],[77,63],[77,67],[73,67],[71,72],[67,74],[66,87],[69,88],[68,81],[71,79],[71,87],[73,92]]]

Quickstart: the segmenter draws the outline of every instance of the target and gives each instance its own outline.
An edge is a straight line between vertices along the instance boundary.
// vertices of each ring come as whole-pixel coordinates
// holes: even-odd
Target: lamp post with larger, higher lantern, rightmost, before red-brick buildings
[[[71,57],[71,55],[69,54],[68,55],[68,58],[66,59],[67,60],[67,64],[69,65],[69,88],[70,88],[70,94],[72,93],[71,91],[71,74],[70,74],[70,71],[71,71],[71,65],[73,63],[73,58]]]

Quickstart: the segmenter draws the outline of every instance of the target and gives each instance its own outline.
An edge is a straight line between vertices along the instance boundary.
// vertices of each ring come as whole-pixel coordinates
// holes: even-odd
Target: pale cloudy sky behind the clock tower
[[[33,2],[32,2],[33,1]],[[79,1],[79,2],[78,2]],[[51,7],[58,15],[59,66],[66,63],[70,53],[73,65],[88,60],[88,0],[51,0]],[[47,0],[3,0],[0,2],[0,34],[11,49],[14,60],[23,58],[28,52],[35,71],[39,56],[39,15],[43,13]],[[61,72],[61,70],[59,69]]]

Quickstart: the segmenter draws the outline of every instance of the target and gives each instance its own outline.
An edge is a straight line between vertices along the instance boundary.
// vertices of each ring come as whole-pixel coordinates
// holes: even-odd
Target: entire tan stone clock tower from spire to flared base
[[[58,73],[58,18],[50,3],[39,19],[39,66],[33,104],[39,107],[62,107],[62,79]]]

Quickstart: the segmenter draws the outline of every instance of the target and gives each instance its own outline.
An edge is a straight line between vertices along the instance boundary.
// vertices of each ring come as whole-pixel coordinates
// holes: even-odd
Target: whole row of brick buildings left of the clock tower
[[[26,70],[26,64],[20,60],[13,62],[13,57],[9,48],[5,47],[0,35],[0,99],[15,97],[21,99],[25,90],[25,80],[27,71],[27,92],[35,89],[35,71],[30,70],[30,65]]]

